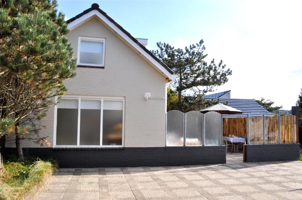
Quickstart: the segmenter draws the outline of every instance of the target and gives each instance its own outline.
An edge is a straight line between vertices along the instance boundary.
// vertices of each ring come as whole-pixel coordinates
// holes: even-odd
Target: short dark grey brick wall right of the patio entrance
[[[298,161],[299,144],[246,145],[246,162]]]

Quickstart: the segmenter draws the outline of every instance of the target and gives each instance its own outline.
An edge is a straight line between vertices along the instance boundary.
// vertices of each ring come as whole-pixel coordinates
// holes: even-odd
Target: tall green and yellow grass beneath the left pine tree
[[[40,183],[47,174],[53,174],[56,162],[53,159],[24,158],[10,156],[3,159],[0,171],[0,199],[17,200]]]

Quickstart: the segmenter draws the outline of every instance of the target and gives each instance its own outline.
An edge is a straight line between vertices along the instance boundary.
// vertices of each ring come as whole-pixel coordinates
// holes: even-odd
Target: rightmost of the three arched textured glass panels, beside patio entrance
[[[221,115],[210,111],[205,117],[205,145],[221,144]]]

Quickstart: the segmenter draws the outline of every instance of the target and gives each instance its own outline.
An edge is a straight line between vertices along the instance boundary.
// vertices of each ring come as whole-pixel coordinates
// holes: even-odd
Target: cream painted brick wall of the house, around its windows
[[[75,57],[79,36],[106,38],[105,68],[78,67],[77,76],[65,82],[66,94],[124,96],[125,147],[165,146],[165,99],[144,101],[145,92],[165,98],[165,77],[95,18],[68,33]],[[43,123],[47,128],[40,132],[49,136],[51,144],[53,117],[54,108],[50,108]],[[23,146],[37,147],[30,141]]]

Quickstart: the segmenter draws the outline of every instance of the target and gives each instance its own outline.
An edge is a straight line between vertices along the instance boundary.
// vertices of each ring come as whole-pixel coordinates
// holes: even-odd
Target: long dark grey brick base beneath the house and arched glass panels
[[[14,154],[15,148],[5,148]],[[225,146],[150,147],[119,149],[23,148],[24,155],[55,156],[59,167],[134,167],[226,163]]]

